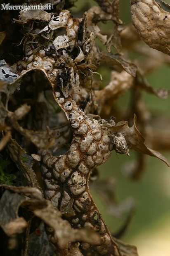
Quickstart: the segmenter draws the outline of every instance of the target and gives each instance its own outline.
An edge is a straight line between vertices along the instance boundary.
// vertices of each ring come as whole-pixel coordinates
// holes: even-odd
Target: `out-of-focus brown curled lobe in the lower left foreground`
[[[43,199],[42,194],[37,189],[33,187],[2,186],[7,190],[0,200],[0,225],[7,235],[13,235],[26,228],[26,220],[18,216],[19,207],[22,206],[33,211],[35,216],[42,219],[50,228],[54,228],[59,247],[65,248],[68,247],[70,242],[82,240],[99,244],[100,237],[97,233],[86,229],[71,228],[70,223],[61,218],[61,213],[54,209],[50,201]],[[31,196],[32,199],[28,196]]]

